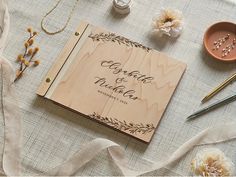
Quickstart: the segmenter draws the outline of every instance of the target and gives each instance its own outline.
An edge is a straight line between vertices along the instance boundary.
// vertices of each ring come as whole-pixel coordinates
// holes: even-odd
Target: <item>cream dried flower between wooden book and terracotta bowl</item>
[[[182,12],[176,9],[162,9],[153,18],[153,31],[160,36],[178,37],[183,30]]]

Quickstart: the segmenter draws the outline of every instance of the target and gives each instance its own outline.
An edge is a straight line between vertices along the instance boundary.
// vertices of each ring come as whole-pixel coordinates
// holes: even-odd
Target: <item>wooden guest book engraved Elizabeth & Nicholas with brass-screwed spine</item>
[[[37,94],[148,143],[185,68],[163,53],[82,22]]]

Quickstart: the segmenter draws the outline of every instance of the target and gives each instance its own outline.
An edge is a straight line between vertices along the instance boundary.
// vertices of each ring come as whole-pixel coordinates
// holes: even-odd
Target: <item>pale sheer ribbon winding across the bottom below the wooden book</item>
[[[149,172],[159,170],[161,168],[168,168],[168,165],[178,162],[187,152],[192,150],[195,146],[221,143],[224,141],[233,140],[236,138],[236,122],[230,122],[224,126],[218,125],[203,130],[182,146],[180,146],[166,161],[151,162],[149,168],[144,171],[133,169],[126,164],[125,153],[118,144],[102,138],[97,138],[89,142],[84,148],[75,153],[69,160],[55,167],[46,174],[71,176],[76,173],[83,165],[91,161],[102,150],[107,149],[115,164],[119,167],[122,174],[125,176],[144,175]]]

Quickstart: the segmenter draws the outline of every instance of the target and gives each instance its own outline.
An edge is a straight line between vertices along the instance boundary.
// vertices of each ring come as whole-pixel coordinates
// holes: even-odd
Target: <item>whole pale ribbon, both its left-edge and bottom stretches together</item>
[[[7,59],[2,57],[7,34],[9,31],[9,14],[4,0],[0,0],[0,88],[1,88],[1,112],[4,122],[4,150],[2,172],[0,175],[21,175],[21,119],[17,106],[17,97],[13,84],[13,68]],[[119,167],[123,175],[137,176],[168,168],[174,162],[178,162],[191,149],[198,145],[221,143],[236,138],[236,122],[210,127],[203,130],[182,146],[180,146],[167,160],[151,162],[146,170],[133,169],[126,163],[124,149],[113,141],[97,138],[86,144],[80,151],[61,165],[45,172],[43,175],[71,176],[103,150],[108,150],[114,163]],[[39,174],[42,175],[42,174]]]

